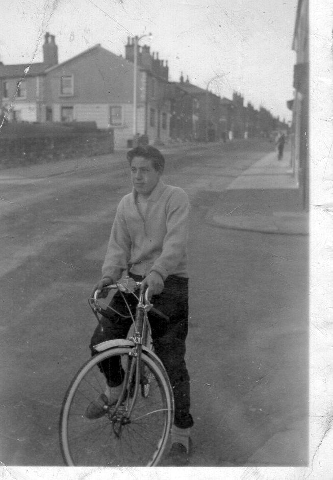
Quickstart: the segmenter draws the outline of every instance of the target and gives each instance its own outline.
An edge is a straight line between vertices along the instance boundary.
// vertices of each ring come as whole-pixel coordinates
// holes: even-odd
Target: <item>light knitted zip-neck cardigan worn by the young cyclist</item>
[[[116,282],[130,265],[130,272],[146,276],[154,270],[163,280],[168,275],[188,277],[187,239],[190,203],[178,187],[160,179],[147,199],[142,217],[135,189],[117,208],[107,254],[104,277]]]

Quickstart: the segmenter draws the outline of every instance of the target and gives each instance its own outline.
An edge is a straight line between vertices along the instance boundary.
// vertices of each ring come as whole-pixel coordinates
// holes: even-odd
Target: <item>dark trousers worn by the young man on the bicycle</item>
[[[142,280],[138,275],[131,276],[136,281]],[[132,294],[124,294],[124,297],[135,315],[136,298]],[[161,317],[148,313],[155,353],[161,359],[173,389],[174,424],[180,428],[189,428],[193,425],[193,419],[190,414],[190,377],[185,363],[185,340],[188,333],[188,279],[175,275],[168,276],[163,292],[153,296],[151,303],[170,318],[170,322],[166,323]],[[112,298],[110,307],[122,315],[129,315],[119,292]],[[126,338],[132,319],[122,318],[114,313],[110,314],[110,318],[102,317],[101,324],[103,331],[98,325],[91,338],[92,355],[96,353],[94,345],[97,343]],[[117,358],[101,362],[100,368],[110,387],[121,384],[123,370]]]

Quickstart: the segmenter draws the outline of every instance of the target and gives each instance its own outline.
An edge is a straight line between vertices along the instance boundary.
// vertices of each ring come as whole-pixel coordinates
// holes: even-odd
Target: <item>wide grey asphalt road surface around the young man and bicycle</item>
[[[306,438],[306,240],[205,222],[228,183],[269,149],[235,142],[165,154],[165,183],[184,188],[192,205],[192,466],[246,465],[292,427]],[[56,173],[47,165],[0,172],[5,465],[63,465],[61,402],[89,357],[96,320],[87,298],[118,201],[131,189],[120,158],[62,162]],[[274,464],[304,464],[306,440],[289,451],[287,460],[277,452]]]

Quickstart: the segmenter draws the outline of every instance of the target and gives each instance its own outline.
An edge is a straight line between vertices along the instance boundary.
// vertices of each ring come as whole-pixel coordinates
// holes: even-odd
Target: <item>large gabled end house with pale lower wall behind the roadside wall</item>
[[[46,33],[42,63],[0,65],[4,115],[9,121],[95,121],[99,129],[114,129],[115,148],[126,147],[133,138],[131,46],[134,52],[133,39],[126,58],[97,44],[58,64],[55,37]],[[138,133],[164,142],[169,139],[168,67],[145,52],[146,57],[139,52],[137,67]]]

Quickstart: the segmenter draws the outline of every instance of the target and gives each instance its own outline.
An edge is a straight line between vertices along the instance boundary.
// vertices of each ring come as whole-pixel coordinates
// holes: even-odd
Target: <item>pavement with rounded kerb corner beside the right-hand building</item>
[[[290,167],[290,154],[277,161],[272,152],[245,170],[223,192],[207,221],[225,229],[308,235],[304,212]]]

